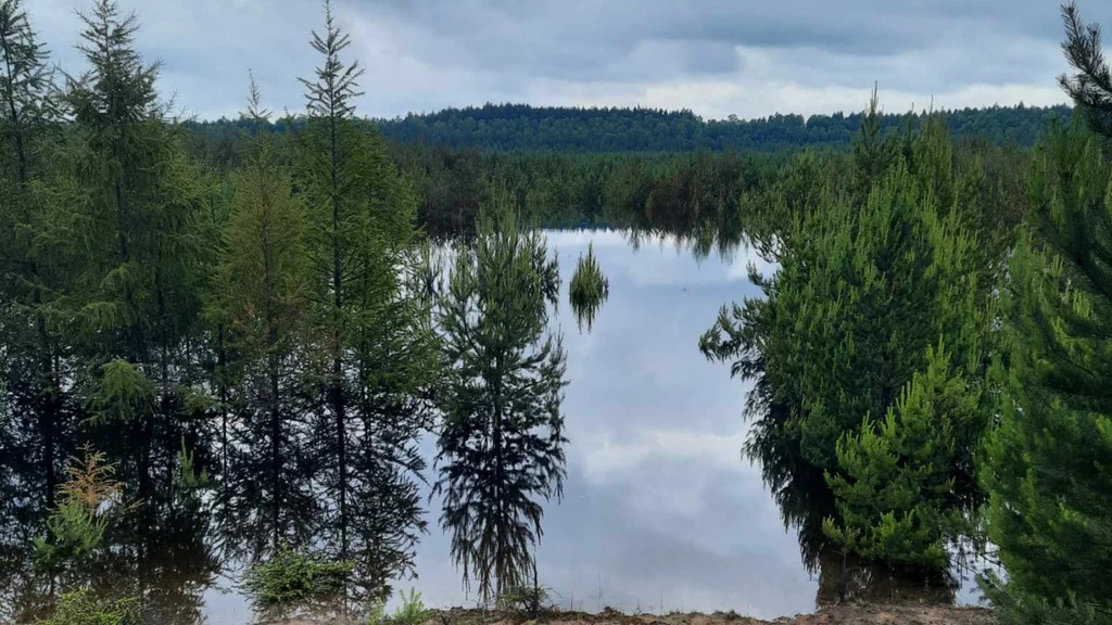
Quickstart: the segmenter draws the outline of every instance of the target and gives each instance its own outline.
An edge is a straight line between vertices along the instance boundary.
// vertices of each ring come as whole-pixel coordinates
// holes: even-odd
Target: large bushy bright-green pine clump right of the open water
[[[992,311],[966,226],[982,207],[940,127],[886,145],[874,131],[848,188],[828,162],[793,163],[783,185],[810,190],[774,207],[763,247],[778,271],[752,276],[765,297],[724,308],[701,347],[755,381],[747,454],[808,559],[833,542],[939,569],[983,498],[972,458]]]

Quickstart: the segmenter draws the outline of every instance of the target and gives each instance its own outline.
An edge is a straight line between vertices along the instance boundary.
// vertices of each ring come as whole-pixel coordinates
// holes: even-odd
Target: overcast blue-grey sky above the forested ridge
[[[26,0],[70,72],[91,0]],[[163,63],[176,110],[244,108],[248,69],[276,111],[300,112],[318,58],[317,0],[120,0]],[[1112,24],[1112,2],[1081,0]],[[1055,0],[334,0],[366,70],[358,112],[485,102],[691,109],[704,118],[1053,105],[1068,69]]]

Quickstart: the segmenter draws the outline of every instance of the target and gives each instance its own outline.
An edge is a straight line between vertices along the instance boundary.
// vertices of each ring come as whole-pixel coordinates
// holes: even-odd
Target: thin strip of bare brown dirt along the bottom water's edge
[[[497,614],[476,609],[437,611],[426,625],[991,625],[992,611],[982,607],[936,605],[843,604],[773,621],[735,613],[599,614],[553,612],[532,619],[527,615]]]

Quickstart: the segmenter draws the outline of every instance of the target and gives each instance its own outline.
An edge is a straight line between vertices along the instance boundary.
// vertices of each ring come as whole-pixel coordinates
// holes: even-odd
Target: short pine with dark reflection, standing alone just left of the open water
[[[438,444],[440,523],[464,583],[484,598],[523,585],[542,535],[542,500],[563,495],[566,355],[547,329],[559,294],[555,259],[518,229],[508,201],[483,210],[441,301],[448,373]]]

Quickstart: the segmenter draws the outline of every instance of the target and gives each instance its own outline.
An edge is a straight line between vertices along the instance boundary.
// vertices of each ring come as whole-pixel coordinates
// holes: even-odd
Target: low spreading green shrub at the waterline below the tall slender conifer
[[[355,566],[354,562],[282,549],[252,566],[244,587],[260,607],[301,605],[339,595]]]

